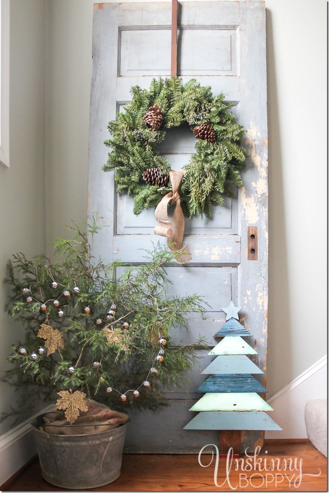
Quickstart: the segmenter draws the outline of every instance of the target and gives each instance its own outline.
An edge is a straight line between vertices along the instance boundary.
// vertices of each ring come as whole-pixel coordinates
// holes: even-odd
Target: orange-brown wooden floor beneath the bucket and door
[[[267,454],[265,451],[268,451]],[[203,456],[203,463],[211,456]],[[244,457],[244,456],[242,456]],[[327,459],[310,443],[286,443],[268,441],[257,457],[262,466],[271,458],[297,459],[297,470],[275,470],[259,472],[231,470],[230,484],[236,491],[327,491]],[[300,468],[300,459],[302,466]],[[258,466],[257,466],[258,467]],[[300,484],[297,477],[300,477]],[[319,474],[319,470],[321,471]],[[319,476],[312,476],[319,474]],[[114,483],[91,491],[230,491],[226,481],[226,459],[219,458],[217,482],[214,484],[214,461],[208,467],[198,464],[197,455],[132,455],[123,457],[122,472]],[[241,482],[241,487],[239,486]],[[267,481],[267,485],[265,484]],[[295,483],[295,484],[294,484]],[[222,486],[221,486],[222,485]],[[16,480],[2,491],[64,491],[46,483],[41,477],[37,460]]]

